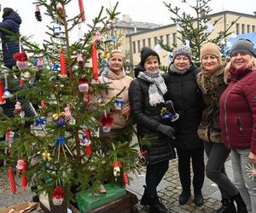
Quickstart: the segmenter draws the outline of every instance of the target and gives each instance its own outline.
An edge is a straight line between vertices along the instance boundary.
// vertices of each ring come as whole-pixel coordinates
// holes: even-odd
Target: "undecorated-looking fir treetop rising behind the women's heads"
[[[222,46],[223,39],[228,37],[232,32],[230,28],[236,23],[236,20],[233,20],[230,23],[230,26],[226,30],[218,32],[218,36],[210,38],[211,30],[209,29],[207,23],[210,23],[211,18],[209,14],[212,9],[209,6],[211,0],[195,0],[195,5],[190,5],[186,0],[181,0],[181,3],[189,4],[189,7],[195,11],[196,16],[194,17],[191,14],[183,12],[181,14],[181,8],[172,6],[172,3],[165,3],[166,8],[171,12],[171,20],[177,24],[177,32],[180,34],[180,37],[177,37],[182,43],[189,41],[189,46],[192,49],[192,58],[194,61],[199,61],[200,49],[202,43],[212,42],[216,43],[219,46]],[[218,20],[214,20],[212,23],[212,28],[217,25]],[[208,28],[208,29],[207,29]],[[211,28],[211,27],[210,27]],[[160,42],[160,46],[166,51],[172,52],[170,46]]]

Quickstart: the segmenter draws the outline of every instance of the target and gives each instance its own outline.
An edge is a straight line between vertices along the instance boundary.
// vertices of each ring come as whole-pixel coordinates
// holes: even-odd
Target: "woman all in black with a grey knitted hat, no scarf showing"
[[[179,113],[176,127],[178,172],[182,185],[179,204],[185,204],[190,197],[192,158],[193,187],[195,204],[204,203],[201,187],[205,177],[203,143],[197,135],[197,128],[201,121],[201,112],[204,107],[201,92],[195,76],[198,70],[191,62],[191,49],[185,45],[178,46],[172,52],[172,64],[169,72],[164,75],[167,100],[172,100]]]

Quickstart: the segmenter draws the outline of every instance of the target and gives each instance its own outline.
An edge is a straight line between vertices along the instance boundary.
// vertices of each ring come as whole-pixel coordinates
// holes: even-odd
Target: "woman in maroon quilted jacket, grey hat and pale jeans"
[[[219,101],[222,139],[231,148],[234,179],[247,211],[256,213],[256,55],[251,41],[232,45],[224,78],[230,83]]]

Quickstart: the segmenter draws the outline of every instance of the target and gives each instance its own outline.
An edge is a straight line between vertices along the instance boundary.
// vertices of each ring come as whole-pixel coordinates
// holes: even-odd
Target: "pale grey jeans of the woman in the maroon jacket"
[[[249,153],[249,149],[232,149],[231,161],[236,186],[247,204],[247,210],[256,213],[256,177],[252,179],[247,175],[247,165],[250,163]],[[256,164],[254,166],[256,167]]]

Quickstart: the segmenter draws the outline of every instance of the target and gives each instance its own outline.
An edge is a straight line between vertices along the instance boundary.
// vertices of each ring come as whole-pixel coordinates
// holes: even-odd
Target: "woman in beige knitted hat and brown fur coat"
[[[224,83],[224,67],[221,61],[221,53],[215,43],[205,43],[201,46],[201,72],[197,75],[197,82],[202,91],[206,107],[202,113],[198,135],[204,141],[207,153],[207,177],[215,182],[221,193],[222,206],[219,213],[244,211],[245,204],[235,184],[227,176],[224,163],[230,156],[230,148],[224,146],[219,125],[218,101],[226,89]],[[242,209],[243,208],[243,209]]]

